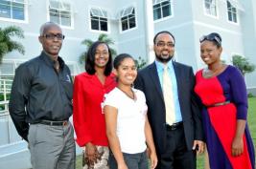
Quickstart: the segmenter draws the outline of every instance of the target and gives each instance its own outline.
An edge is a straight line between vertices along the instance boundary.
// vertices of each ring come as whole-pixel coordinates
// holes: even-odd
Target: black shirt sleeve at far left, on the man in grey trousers
[[[18,134],[28,141],[29,124],[26,122],[26,109],[31,90],[29,69],[25,64],[20,65],[14,75],[12,92],[9,102],[9,111]]]

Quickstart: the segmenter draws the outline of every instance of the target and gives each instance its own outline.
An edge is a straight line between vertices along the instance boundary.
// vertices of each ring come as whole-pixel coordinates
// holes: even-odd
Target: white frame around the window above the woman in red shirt
[[[96,11],[92,13],[93,11]],[[92,21],[92,16],[93,14],[94,17],[99,17],[99,30],[93,30],[91,21]],[[108,18],[108,11],[105,9],[102,9],[100,7],[90,7],[89,8],[89,27],[90,27],[90,32],[101,32],[101,33],[110,33],[110,24],[109,24],[109,18]],[[106,26],[107,26],[107,31],[102,31],[101,29],[101,19],[106,19]],[[102,21],[103,22],[103,21]]]

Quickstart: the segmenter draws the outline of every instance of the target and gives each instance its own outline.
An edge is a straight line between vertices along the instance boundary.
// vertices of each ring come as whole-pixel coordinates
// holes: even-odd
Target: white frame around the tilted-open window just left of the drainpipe
[[[134,11],[134,14],[133,14]],[[135,19],[135,27],[133,28],[129,28],[129,19],[132,17],[129,17],[129,15],[133,14],[134,15],[134,19]],[[123,30],[122,28],[122,18],[127,17],[127,21],[128,21],[128,30]],[[134,6],[129,6],[123,10],[121,10],[118,14],[118,19],[119,19],[119,30],[121,33],[123,32],[130,32],[133,30],[136,30],[138,28],[138,23],[137,23],[137,11],[136,8]]]

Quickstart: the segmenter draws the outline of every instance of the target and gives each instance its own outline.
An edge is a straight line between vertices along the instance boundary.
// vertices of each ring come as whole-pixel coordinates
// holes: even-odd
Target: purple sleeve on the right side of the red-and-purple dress
[[[237,119],[246,119],[248,104],[244,76],[237,68],[233,68],[234,69],[229,78],[232,96],[231,101],[236,105]]]

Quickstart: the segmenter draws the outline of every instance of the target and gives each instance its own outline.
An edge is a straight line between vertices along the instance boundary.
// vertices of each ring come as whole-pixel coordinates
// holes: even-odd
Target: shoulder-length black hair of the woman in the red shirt
[[[96,71],[95,71],[95,53],[96,53],[96,50],[97,50],[97,47],[101,44],[105,44],[105,46],[107,47],[107,50],[108,50],[108,54],[109,54],[109,58],[108,58],[108,61],[105,65],[105,72],[104,74],[105,75],[109,75],[111,74],[112,72],[112,68],[113,68],[113,65],[112,65],[112,54],[111,54],[111,51],[108,47],[108,45],[105,43],[105,42],[101,42],[101,41],[96,41],[94,42],[90,48],[88,49],[88,52],[87,52],[87,55],[86,55],[86,59],[85,59],[85,71],[88,73],[88,74],[95,74]]]

